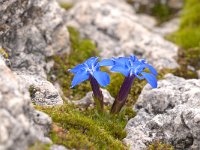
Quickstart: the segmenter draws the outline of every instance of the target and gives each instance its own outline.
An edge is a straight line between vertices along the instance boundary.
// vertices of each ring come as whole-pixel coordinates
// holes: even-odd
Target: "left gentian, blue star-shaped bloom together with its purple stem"
[[[103,94],[99,87],[99,84],[101,86],[108,85],[110,83],[110,77],[106,72],[102,72],[100,70],[98,57],[91,57],[83,64],[79,64],[69,71],[75,74],[72,80],[71,88],[85,80],[90,80],[97,109],[99,111],[103,111]]]

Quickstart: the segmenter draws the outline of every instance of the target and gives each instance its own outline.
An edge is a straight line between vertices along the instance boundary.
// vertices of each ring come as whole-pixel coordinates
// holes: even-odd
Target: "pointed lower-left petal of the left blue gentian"
[[[72,80],[72,86],[71,88],[73,88],[74,86],[76,86],[77,84],[87,80],[89,78],[89,74],[86,70],[77,72]]]

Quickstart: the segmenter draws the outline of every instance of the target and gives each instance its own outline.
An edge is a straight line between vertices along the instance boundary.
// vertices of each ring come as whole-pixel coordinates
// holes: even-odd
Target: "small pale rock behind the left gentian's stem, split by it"
[[[104,105],[112,105],[114,102],[114,98],[110,95],[110,93],[106,89],[101,89],[102,94],[104,96]],[[80,106],[81,108],[94,107],[95,101],[93,98],[93,92],[88,92],[85,97],[80,100],[70,101],[71,103]]]

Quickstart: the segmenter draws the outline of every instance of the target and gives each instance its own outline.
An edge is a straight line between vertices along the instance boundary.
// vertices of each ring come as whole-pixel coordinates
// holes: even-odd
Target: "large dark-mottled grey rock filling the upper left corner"
[[[55,0],[7,0],[0,6],[0,45],[12,70],[46,77],[45,57],[69,52],[64,11]]]

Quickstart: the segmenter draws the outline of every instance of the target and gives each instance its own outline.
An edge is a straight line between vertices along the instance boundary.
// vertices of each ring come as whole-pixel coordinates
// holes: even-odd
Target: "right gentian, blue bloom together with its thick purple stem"
[[[153,87],[157,87],[157,71],[148,64],[144,59],[137,59],[136,56],[119,57],[112,59],[104,59],[99,63],[100,66],[111,66],[111,71],[122,73],[125,76],[124,82],[118,92],[117,97],[111,108],[111,113],[118,113],[124,106],[134,79],[137,77],[140,80],[146,81]],[[151,73],[144,72],[148,68]]]

